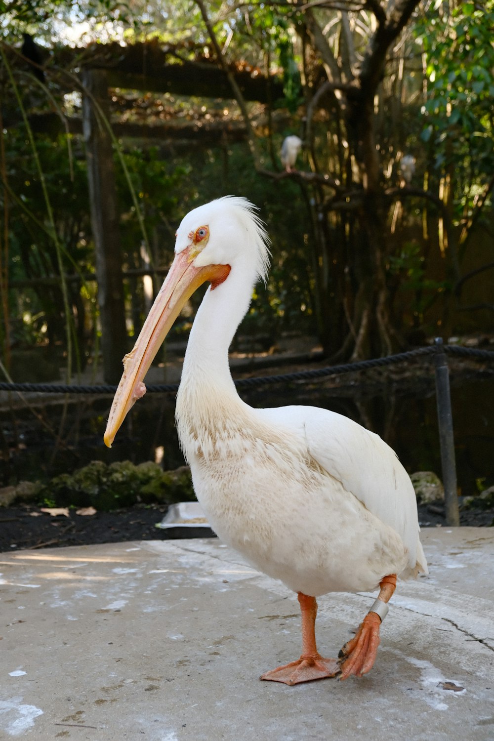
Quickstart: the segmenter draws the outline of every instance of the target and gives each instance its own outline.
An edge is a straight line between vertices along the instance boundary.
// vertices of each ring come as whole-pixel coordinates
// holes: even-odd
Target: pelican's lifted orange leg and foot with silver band
[[[384,576],[379,586],[381,591],[378,594],[378,599],[386,604],[395,591],[396,574]],[[362,674],[367,674],[373,668],[378,651],[380,626],[381,618],[378,614],[372,610],[368,612],[360,628],[358,628],[355,638],[345,643],[338,655],[341,665],[341,677],[339,679],[347,679],[350,674],[361,677]]]

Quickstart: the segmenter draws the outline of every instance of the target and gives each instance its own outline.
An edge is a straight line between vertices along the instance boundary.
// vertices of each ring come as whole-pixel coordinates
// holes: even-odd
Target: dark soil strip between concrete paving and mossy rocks
[[[66,517],[41,513],[33,505],[0,508],[0,551],[176,538],[176,531],[156,527],[166,511],[166,505],[138,504],[85,516],[70,510]],[[490,527],[494,523],[494,510],[464,511],[460,516],[461,525]],[[421,505],[418,519],[421,527],[445,526],[440,504]]]

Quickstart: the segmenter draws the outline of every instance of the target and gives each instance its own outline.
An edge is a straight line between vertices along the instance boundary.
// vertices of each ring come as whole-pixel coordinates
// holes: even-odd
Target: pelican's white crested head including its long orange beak
[[[231,270],[265,279],[269,264],[267,233],[256,207],[247,199],[226,196],[193,209],[176,232],[175,259],[156,296],[133,349],[124,357],[124,373],[113,399],[104,442],[110,448],[127,412],[144,396],[144,376],[181,308],[209,281],[215,290]]]

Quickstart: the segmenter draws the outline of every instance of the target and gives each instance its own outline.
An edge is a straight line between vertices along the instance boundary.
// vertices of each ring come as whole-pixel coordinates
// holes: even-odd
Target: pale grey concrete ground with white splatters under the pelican
[[[0,554],[0,738],[494,739],[494,528],[423,531],[373,671],[288,687],[298,602],[216,539]],[[373,597],[322,597],[336,656]]]

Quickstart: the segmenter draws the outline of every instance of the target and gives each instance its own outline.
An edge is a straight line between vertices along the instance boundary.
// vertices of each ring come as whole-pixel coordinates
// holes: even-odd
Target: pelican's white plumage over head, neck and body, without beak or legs
[[[238,397],[228,348],[267,247],[243,199],[208,205],[211,234],[228,202],[236,207],[230,234],[237,234],[230,275],[207,290],[198,310],[176,407],[178,436],[213,529],[256,568],[313,597],[370,591],[387,574],[427,573],[413,486],[386,443],[330,411],[253,409]],[[201,209],[205,216],[201,207],[182,222],[176,251],[181,233],[201,223]],[[227,247],[214,249],[221,255]]]

